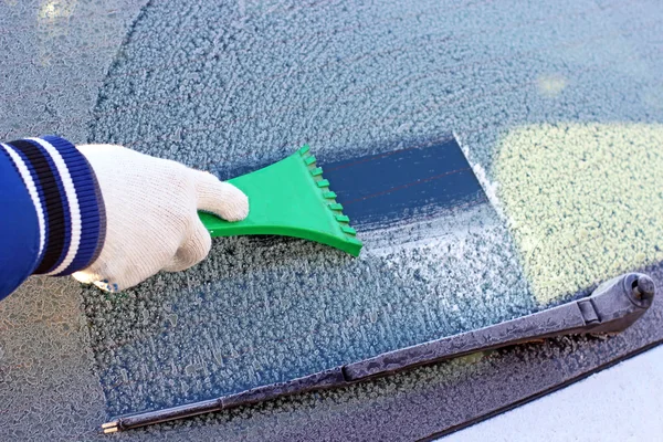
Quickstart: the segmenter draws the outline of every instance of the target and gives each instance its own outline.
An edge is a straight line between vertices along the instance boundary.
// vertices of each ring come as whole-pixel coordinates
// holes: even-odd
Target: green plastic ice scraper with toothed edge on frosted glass
[[[263,169],[233,178],[228,182],[249,197],[249,217],[228,222],[210,213],[200,219],[212,236],[275,234],[303,238],[359,255],[357,240],[343,206],[323,169],[315,164],[308,146]]]

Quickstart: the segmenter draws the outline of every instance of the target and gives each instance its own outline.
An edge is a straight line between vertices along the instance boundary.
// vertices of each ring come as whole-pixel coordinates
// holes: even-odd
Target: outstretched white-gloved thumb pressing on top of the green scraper
[[[191,170],[194,176],[198,210],[227,221],[240,221],[249,214],[249,198],[236,187],[209,172]]]

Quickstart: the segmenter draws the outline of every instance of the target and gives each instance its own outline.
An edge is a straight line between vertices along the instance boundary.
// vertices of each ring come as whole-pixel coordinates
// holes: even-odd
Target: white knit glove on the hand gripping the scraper
[[[188,269],[211,248],[198,210],[228,221],[249,213],[246,196],[211,173],[122,146],[76,147],[92,165],[106,209],[99,256],[73,274],[82,283],[117,292],[161,270]]]

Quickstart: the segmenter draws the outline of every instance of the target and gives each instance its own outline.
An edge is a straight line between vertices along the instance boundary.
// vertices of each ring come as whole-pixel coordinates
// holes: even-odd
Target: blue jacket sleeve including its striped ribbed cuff
[[[85,269],[104,236],[102,193],[74,145],[55,136],[0,144],[0,299],[30,275]]]

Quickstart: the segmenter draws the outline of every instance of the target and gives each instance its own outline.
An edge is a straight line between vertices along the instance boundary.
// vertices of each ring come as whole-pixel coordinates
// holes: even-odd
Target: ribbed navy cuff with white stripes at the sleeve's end
[[[3,147],[21,171],[38,213],[41,240],[34,274],[63,276],[90,266],[104,244],[106,213],[87,159],[56,136]]]

